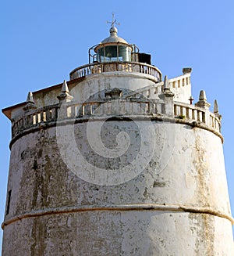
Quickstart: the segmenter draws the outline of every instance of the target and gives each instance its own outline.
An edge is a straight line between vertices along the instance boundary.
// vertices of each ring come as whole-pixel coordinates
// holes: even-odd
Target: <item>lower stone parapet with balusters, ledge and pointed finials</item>
[[[83,122],[87,121],[90,116],[96,119],[106,119],[107,117],[119,119],[137,117],[141,119],[147,116],[151,118],[151,121],[167,121],[176,124],[187,124],[193,128],[204,128],[214,132],[222,139],[221,115],[217,112],[211,113],[199,102],[192,105],[174,101],[173,93],[168,94],[170,89],[166,88],[163,82],[158,83],[157,88],[161,99],[147,97],[147,94],[150,96],[151,93],[155,92],[155,88],[142,89],[141,92],[129,93],[125,96],[122,96],[121,89],[112,88],[106,91],[103,99],[76,103],[73,100],[65,102],[65,96],[62,104],[60,102],[39,108],[35,106],[33,96],[30,93],[27,103],[21,106],[23,112],[20,117],[12,119],[11,145],[21,136],[38,129],[61,123]],[[64,91],[64,85],[62,85],[62,90]],[[66,91],[66,93],[68,96],[69,92]],[[205,106],[207,105],[205,104]],[[217,102],[215,106],[217,106]],[[2,111],[5,113],[7,109]]]

